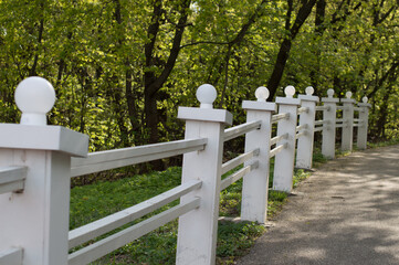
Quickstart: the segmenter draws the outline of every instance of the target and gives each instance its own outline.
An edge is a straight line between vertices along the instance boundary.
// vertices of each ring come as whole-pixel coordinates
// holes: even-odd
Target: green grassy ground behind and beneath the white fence
[[[317,151],[315,153],[314,165],[317,166],[325,161]],[[270,176],[273,176],[273,161]],[[295,170],[294,187],[308,176],[308,172]],[[164,172],[75,187],[71,190],[70,229],[73,230],[162,193],[179,186],[180,179],[181,168],[175,167]],[[270,183],[272,183],[272,178]],[[238,181],[221,192],[220,216],[240,216],[241,188],[242,181]],[[267,218],[273,219],[286,200],[286,193],[271,190],[269,192]],[[177,203],[178,201],[175,201],[159,211],[165,211]],[[132,224],[129,223],[119,230]],[[237,257],[248,253],[254,240],[264,231],[263,225],[252,222],[219,222],[217,264],[233,264]],[[174,221],[93,264],[175,264],[176,241],[177,221]],[[87,244],[90,243],[92,242]]]

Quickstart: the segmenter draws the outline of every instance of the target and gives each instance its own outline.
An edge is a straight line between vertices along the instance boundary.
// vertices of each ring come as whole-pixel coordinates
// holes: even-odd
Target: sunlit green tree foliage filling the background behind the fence
[[[269,82],[287,34],[286,2],[154,2],[1,1],[1,121],[19,120],[13,91],[24,77],[40,75],[56,89],[51,124],[90,135],[92,151],[141,145],[149,138],[145,89],[151,85],[148,80],[164,73],[167,77],[153,95],[160,141],[182,138],[177,107],[198,106],[195,91],[202,83],[217,87],[214,105],[242,124],[241,102],[254,99],[255,88]],[[182,9],[187,3],[189,8]],[[293,3],[296,12],[301,3]],[[158,17],[155,7],[161,9]],[[172,60],[185,10],[187,23]],[[315,24],[316,11],[295,36],[281,86],[291,84],[303,93],[313,85],[318,96],[333,87],[338,97],[349,89],[358,100],[367,95],[372,104],[371,138],[398,138],[397,3],[328,1],[322,25]],[[154,34],[153,17],[159,23]],[[172,66],[167,68],[169,59]]]

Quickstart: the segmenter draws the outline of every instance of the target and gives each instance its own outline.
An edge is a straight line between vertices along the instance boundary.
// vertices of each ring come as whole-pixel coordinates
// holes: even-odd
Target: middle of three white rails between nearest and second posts
[[[168,204],[169,202],[179,199],[181,195],[199,189],[201,184],[202,183],[199,180],[188,181],[187,183],[183,183],[177,188],[166,191],[159,195],[153,197],[147,201],[144,201],[134,206],[127,208],[106,218],[70,231],[69,247],[72,248],[84,242],[103,235],[109,231],[113,231],[124,224],[133,222],[136,219],[139,219]]]

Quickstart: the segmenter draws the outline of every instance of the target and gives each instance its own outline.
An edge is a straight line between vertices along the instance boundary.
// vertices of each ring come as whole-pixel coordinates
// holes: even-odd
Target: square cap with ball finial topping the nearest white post
[[[73,157],[86,157],[88,136],[61,126],[48,126],[46,114],[55,104],[54,87],[49,81],[31,76],[14,94],[22,112],[21,124],[0,124],[0,148],[51,150]]]

